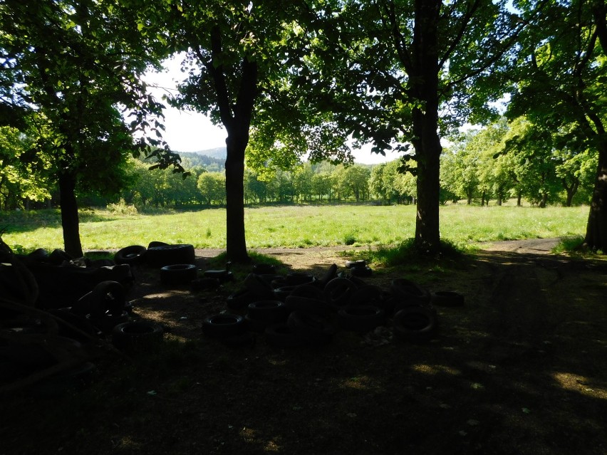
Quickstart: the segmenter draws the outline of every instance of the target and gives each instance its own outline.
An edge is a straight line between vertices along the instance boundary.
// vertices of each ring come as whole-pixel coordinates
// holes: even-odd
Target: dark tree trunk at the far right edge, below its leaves
[[[584,243],[593,251],[607,252],[607,139],[598,146],[598,169]]]

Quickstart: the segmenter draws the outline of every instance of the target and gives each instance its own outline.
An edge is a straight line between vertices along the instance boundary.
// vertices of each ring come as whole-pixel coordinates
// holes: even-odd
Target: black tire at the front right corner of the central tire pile
[[[430,341],[435,336],[437,325],[436,313],[423,306],[403,308],[393,318],[395,338],[415,343]]]

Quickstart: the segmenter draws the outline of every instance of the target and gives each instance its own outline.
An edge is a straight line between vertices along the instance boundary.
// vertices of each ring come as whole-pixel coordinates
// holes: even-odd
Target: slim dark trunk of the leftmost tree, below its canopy
[[[63,248],[73,258],[83,255],[76,201],[76,177],[65,172],[59,174],[59,204],[61,205],[61,227]]]

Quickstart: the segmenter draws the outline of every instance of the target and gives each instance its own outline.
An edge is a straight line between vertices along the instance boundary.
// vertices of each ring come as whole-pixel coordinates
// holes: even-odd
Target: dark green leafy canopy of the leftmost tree
[[[129,152],[162,146],[162,105],[140,75],[160,61],[157,43],[141,39],[132,21],[137,1],[6,0],[0,5],[1,95],[4,111],[21,108],[36,131],[38,155],[80,184],[111,189],[98,178]],[[26,115],[25,115],[26,114]],[[125,122],[123,115],[130,117]],[[150,131],[133,143],[133,133]],[[152,155],[179,163],[167,147]]]

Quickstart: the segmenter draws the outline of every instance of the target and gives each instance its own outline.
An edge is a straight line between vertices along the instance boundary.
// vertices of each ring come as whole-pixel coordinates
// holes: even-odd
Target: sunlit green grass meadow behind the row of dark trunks
[[[440,234],[455,244],[582,236],[588,207],[466,206],[440,209]],[[152,240],[225,248],[225,210],[171,214],[81,212],[83,249],[117,249]],[[245,209],[249,248],[390,245],[415,233],[415,206],[264,206]],[[0,212],[0,229],[14,249],[63,247],[58,211]]]

